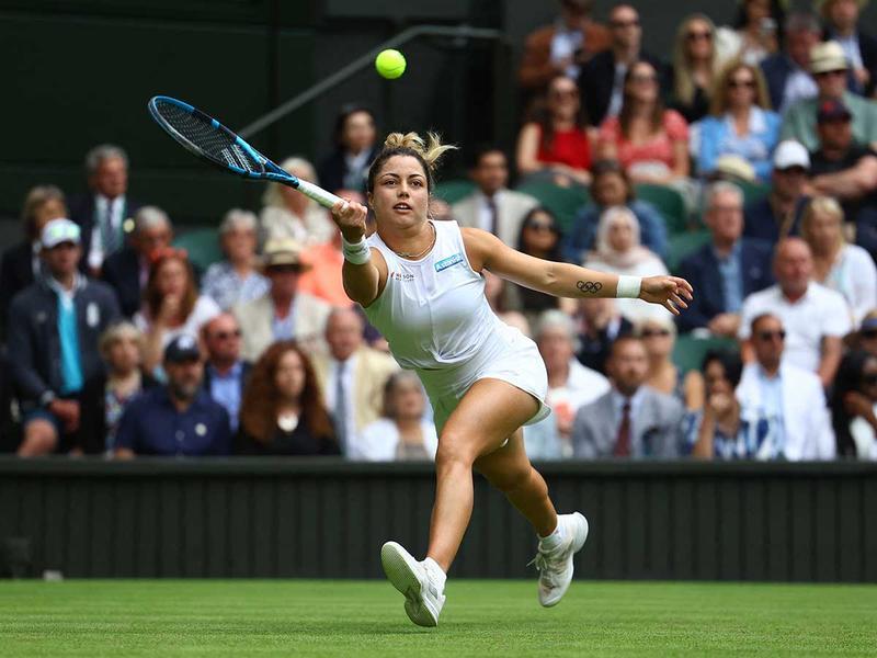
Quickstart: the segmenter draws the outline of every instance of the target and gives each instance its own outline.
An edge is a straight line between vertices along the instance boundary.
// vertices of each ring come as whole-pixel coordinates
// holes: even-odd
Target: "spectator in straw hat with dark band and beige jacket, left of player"
[[[243,359],[255,362],[278,340],[296,340],[307,351],[323,351],[322,334],[332,307],[298,290],[299,274],[309,269],[301,262],[301,246],[292,238],[269,240],[263,268],[271,282],[267,294],[231,311],[240,325]]]

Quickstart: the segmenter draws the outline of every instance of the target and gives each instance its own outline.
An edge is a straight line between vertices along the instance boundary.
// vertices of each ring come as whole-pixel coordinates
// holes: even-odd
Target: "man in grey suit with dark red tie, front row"
[[[649,363],[642,341],[620,337],[607,365],[612,390],[576,415],[573,456],[679,457],[685,410],[675,398],[643,385]]]

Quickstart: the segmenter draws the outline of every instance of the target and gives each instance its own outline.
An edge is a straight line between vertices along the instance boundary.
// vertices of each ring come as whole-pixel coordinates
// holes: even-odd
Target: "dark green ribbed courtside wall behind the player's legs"
[[[334,460],[0,460],[0,548],[67,577],[380,576],[426,549],[431,464]],[[877,582],[877,465],[553,463],[591,522],[580,578]],[[452,575],[535,578],[526,522],[476,478]]]

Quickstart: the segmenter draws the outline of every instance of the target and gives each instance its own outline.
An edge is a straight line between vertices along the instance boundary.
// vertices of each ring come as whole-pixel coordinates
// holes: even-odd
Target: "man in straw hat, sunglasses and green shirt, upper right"
[[[783,117],[782,139],[797,139],[808,150],[817,150],[819,106],[825,101],[841,101],[853,118],[853,139],[872,147],[877,145],[877,103],[846,88],[848,69],[846,55],[836,42],[825,42],[810,50],[810,72],[819,93],[817,98],[798,101],[788,109]]]

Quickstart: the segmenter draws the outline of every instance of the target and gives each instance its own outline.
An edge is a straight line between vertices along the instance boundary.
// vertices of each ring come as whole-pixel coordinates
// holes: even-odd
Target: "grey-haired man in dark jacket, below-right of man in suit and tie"
[[[134,216],[134,231],[128,243],[103,263],[101,279],[118,297],[122,315],[134,317],[143,304],[143,291],[149,279],[151,253],[171,246],[173,227],[168,215],[157,206],[144,206]]]

